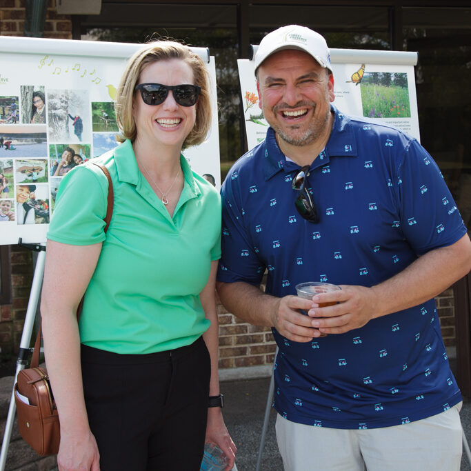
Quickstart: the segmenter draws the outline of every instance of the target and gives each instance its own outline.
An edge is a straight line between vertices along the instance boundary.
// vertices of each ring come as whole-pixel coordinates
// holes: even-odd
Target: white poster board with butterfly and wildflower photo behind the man
[[[253,56],[258,46],[252,46]],[[383,121],[419,136],[414,66],[417,52],[331,49],[334,106],[353,116]],[[239,59],[239,78],[248,148],[257,146],[268,128],[254,77],[254,61]]]

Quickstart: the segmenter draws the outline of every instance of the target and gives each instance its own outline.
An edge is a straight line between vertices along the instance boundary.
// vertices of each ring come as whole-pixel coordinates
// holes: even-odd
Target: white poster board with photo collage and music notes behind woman
[[[139,47],[0,37],[0,245],[20,237],[46,242],[57,187],[68,170],[58,170],[67,148],[78,165],[80,158],[93,159],[118,145],[112,103],[123,68]],[[212,128],[205,142],[183,155],[195,172],[212,174],[219,188],[214,57],[207,48],[192,50],[210,72]],[[25,204],[34,208],[26,211]]]

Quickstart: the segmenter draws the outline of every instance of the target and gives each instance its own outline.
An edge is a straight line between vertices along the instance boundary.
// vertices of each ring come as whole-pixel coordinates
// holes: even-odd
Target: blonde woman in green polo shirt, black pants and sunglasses
[[[210,129],[208,83],[186,46],[144,46],[121,78],[121,146],[94,159],[112,177],[108,232],[97,166],[77,166],[59,188],[41,313],[61,471],[197,471],[205,441],[234,463],[221,409],[208,408],[219,399],[221,203],[181,155]]]

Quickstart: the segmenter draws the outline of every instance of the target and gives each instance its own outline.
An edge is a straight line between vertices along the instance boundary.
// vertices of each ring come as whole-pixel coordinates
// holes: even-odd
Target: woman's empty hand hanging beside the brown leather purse
[[[59,471],[100,471],[97,441],[90,429],[83,433],[61,430],[57,465]]]

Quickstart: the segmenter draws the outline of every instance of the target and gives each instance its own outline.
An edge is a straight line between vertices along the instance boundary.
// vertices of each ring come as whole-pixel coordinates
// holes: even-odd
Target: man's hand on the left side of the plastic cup
[[[297,296],[279,298],[276,310],[272,312],[272,324],[277,331],[294,342],[310,342],[314,337],[320,337],[319,329],[314,328],[314,321],[309,316],[301,314],[300,310],[308,312],[312,301]]]

